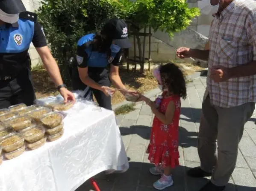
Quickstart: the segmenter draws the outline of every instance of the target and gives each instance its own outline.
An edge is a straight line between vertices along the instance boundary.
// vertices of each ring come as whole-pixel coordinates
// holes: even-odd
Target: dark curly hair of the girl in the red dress
[[[163,86],[168,87],[168,90],[173,94],[185,99],[187,88],[182,70],[174,63],[161,65],[159,70]]]

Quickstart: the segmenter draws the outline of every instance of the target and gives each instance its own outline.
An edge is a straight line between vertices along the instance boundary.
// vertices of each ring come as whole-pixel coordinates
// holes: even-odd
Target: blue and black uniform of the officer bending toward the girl
[[[121,60],[121,48],[116,45],[110,46],[109,53],[101,53],[94,47],[95,34],[87,34],[77,43],[77,66],[73,67],[72,82],[74,90],[85,90],[85,97],[92,100],[94,94],[97,102],[103,108],[112,109],[111,97],[102,91],[86,86],[79,78],[78,69],[88,67],[88,76],[101,86],[110,86],[107,66],[113,64],[119,66]]]

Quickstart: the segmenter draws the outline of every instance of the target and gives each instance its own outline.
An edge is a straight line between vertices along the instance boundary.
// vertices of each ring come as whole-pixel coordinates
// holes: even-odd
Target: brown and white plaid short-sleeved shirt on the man
[[[209,68],[227,68],[256,61],[256,1],[233,0],[215,14],[209,34]],[[206,95],[212,105],[234,107],[256,102],[256,75],[215,83],[207,77]]]

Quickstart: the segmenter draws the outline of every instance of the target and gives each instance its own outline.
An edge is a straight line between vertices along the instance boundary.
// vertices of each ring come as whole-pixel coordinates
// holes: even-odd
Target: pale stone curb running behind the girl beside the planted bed
[[[196,71],[194,74],[191,74],[191,75],[188,75],[187,76],[187,79],[188,80],[195,80],[195,79],[198,79],[201,77],[201,72],[199,71]],[[159,90],[159,88],[155,88],[155,89],[152,89],[150,91],[147,91],[146,93],[144,93],[144,96],[148,97],[148,98],[151,98],[151,97],[154,97],[156,96],[157,94],[160,94],[161,91]],[[114,111],[115,109],[121,107],[122,105],[127,105],[127,104],[131,104],[131,103],[134,103],[134,102],[129,102],[129,101],[123,101],[121,103],[118,103],[116,105],[112,105],[112,110]],[[139,104],[140,102],[137,102],[135,104]]]

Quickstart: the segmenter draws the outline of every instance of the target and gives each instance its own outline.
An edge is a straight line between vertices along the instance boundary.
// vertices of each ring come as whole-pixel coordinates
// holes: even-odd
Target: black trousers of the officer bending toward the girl
[[[100,84],[101,86],[110,86],[110,82],[109,82],[109,77],[107,74],[104,75],[91,75],[91,78],[97,82],[98,84]],[[73,89],[74,90],[82,90],[82,91],[86,91],[85,93],[85,98],[88,100],[93,100],[93,95],[97,100],[97,103],[99,104],[100,107],[112,110],[112,105],[111,105],[111,97],[110,96],[106,96],[102,91],[91,88],[89,86],[86,86],[84,83],[82,83],[82,81],[80,79],[73,79],[72,80],[72,84],[73,84]]]

